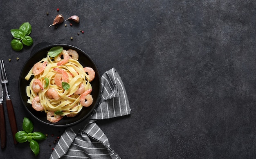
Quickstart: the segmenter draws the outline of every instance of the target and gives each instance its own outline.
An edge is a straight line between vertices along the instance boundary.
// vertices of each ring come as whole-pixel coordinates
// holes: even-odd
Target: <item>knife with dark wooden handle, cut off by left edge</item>
[[[0,82],[0,139],[1,139],[1,148],[6,146],[6,126],[5,126],[5,117],[4,117],[4,107],[3,107],[3,88],[2,83]]]

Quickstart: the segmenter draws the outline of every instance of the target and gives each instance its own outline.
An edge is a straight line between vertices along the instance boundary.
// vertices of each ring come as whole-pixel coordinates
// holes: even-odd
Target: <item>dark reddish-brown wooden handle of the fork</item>
[[[11,125],[11,132],[12,132],[13,142],[16,145],[17,141],[15,139],[15,134],[16,134],[16,132],[18,132],[18,130],[17,130],[17,123],[16,123],[15,113],[14,113],[14,110],[13,110],[13,105],[11,103],[11,99],[6,99],[6,107],[7,107],[9,122],[10,122],[10,125]]]

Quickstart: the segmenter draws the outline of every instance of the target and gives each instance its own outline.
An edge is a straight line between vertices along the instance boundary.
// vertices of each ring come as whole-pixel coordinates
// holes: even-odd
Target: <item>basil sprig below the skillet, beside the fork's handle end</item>
[[[19,143],[28,141],[30,149],[34,152],[35,156],[37,156],[39,153],[39,144],[37,140],[44,140],[47,137],[42,132],[33,132],[34,125],[26,117],[23,119],[22,129],[23,131],[16,132],[15,134],[16,141]]]

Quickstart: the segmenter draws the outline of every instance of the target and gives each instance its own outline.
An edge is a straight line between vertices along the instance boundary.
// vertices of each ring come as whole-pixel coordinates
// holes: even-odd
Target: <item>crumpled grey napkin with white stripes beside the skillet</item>
[[[101,76],[101,98],[87,125],[65,130],[50,159],[121,159],[95,121],[130,114],[126,90],[115,68]]]

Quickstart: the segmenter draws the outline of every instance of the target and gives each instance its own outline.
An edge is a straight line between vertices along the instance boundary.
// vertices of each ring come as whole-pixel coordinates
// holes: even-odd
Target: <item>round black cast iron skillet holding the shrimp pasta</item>
[[[51,49],[52,47],[55,46],[62,46],[63,49],[74,49],[76,52],[79,54],[79,62],[83,67],[92,67],[95,71],[95,78],[91,82],[92,85],[92,98],[93,98],[93,103],[90,105],[90,107],[83,107],[81,112],[77,114],[74,117],[64,117],[57,123],[51,123],[46,119],[46,113],[43,112],[37,112],[34,110],[31,106],[31,104],[27,103],[27,100],[29,99],[26,94],[26,87],[29,85],[30,81],[34,76],[31,76],[29,81],[25,80],[25,76],[29,72],[29,70],[34,66],[35,63],[40,61],[42,58],[45,58],[47,56],[47,51]],[[32,51],[31,51],[31,56],[23,66],[21,72],[20,72],[20,77],[19,77],[19,93],[20,93],[20,98],[22,100],[23,105],[25,106],[25,109],[33,116],[35,119],[38,121],[52,125],[52,126],[60,126],[60,127],[66,127],[66,126],[71,126],[75,125],[85,119],[88,119],[90,117],[91,112],[94,110],[94,108],[97,106],[97,103],[99,101],[99,97],[101,94],[101,78],[99,75],[99,70],[97,69],[96,64],[93,62],[93,60],[83,52],[81,49],[71,46],[71,45],[66,45],[66,44],[50,44],[50,43],[41,43],[39,45],[36,45]]]

